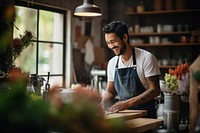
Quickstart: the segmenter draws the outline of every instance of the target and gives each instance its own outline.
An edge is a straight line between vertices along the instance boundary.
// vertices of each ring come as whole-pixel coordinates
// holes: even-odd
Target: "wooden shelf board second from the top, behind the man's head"
[[[149,32],[149,33],[130,33],[130,36],[157,36],[157,35],[180,35],[180,34],[192,34],[192,31],[185,32]]]

